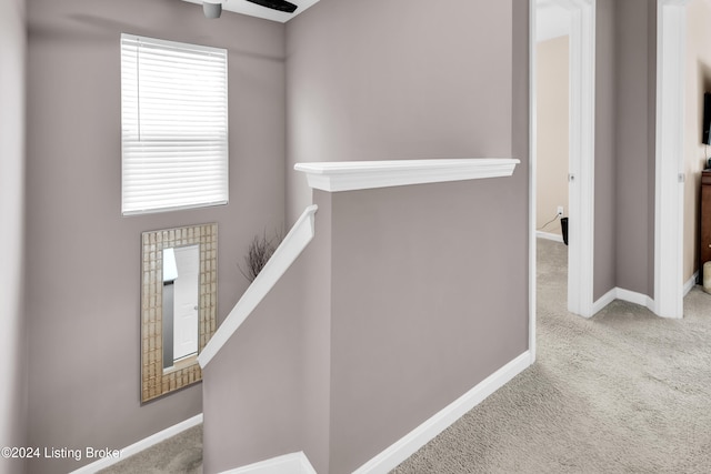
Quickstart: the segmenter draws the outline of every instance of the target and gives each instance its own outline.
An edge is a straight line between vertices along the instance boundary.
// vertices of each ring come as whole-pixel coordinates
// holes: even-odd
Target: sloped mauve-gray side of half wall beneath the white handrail
[[[304,451],[329,472],[330,201],[316,235],[203,372],[203,472]]]

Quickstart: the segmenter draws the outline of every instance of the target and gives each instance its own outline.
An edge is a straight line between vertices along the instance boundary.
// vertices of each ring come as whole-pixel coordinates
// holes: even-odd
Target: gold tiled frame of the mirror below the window
[[[162,250],[200,245],[198,353],[217,330],[218,224],[163,229],[141,234],[141,403],[202,380],[197,356],[189,364],[163,371]]]

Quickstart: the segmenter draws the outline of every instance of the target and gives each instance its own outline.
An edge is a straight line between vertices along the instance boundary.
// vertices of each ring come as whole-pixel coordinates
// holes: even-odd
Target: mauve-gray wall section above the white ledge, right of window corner
[[[528,123],[518,117],[525,111],[512,110],[512,81],[528,81],[528,62],[521,75],[512,73],[513,34],[528,44],[520,34],[528,23],[512,28],[512,3],[321,0],[291,20],[288,169],[303,161],[510,157],[512,113]],[[527,132],[517,129],[513,138]],[[310,193],[296,173],[287,191],[293,222]]]

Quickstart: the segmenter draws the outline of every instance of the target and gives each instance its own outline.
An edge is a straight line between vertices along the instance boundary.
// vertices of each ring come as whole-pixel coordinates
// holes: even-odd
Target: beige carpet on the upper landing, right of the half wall
[[[684,319],[565,310],[567,248],[539,240],[538,361],[394,473],[711,473],[711,295]]]

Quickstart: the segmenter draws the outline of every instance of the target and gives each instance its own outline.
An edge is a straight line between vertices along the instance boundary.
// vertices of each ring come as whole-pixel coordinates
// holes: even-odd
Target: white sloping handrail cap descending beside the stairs
[[[230,311],[224,322],[220,324],[220,327],[198,355],[198,363],[202,369],[217,355],[220,349],[234,334],[234,331],[249,317],[254,307],[311,242],[314,234],[314,214],[318,209],[317,205],[310,205],[303,211],[271,259],[269,259],[240,301]]]

